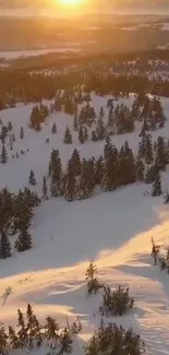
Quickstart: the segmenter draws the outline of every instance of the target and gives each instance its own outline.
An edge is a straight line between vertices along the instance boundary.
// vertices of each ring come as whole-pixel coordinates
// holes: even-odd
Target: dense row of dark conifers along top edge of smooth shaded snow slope
[[[106,138],[104,156],[95,159],[81,159],[76,149],[68,162],[67,171],[62,169],[59,150],[52,150],[49,162],[49,184],[52,197],[63,196],[65,200],[89,198],[96,186],[104,191],[113,191],[120,186],[135,181],[153,184],[153,196],[161,191],[160,171],[169,163],[169,142],[158,137],[153,144],[150,134],[144,133],[136,155],[129,143],[118,149]],[[44,196],[48,197],[48,184],[44,180]]]

